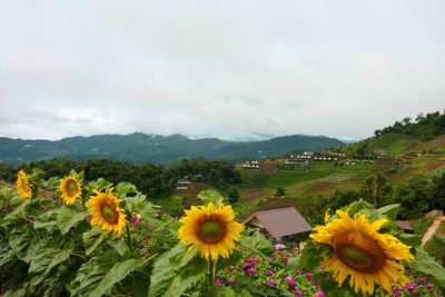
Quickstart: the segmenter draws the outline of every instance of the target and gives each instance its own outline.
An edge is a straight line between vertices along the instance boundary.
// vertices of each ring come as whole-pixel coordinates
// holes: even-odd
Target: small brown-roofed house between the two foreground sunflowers
[[[245,225],[259,229],[274,244],[286,242],[298,247],[298,235],[312,231],[313,227],[295,207],[258,211],[251,215]]]

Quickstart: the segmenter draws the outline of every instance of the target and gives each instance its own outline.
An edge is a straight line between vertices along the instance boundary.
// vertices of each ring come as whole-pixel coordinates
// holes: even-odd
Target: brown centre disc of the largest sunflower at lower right
[[[385,265],[385,253],[377,242],[368,237],[352,236],[335,246],[335,253],[348,267],[374,274]]]

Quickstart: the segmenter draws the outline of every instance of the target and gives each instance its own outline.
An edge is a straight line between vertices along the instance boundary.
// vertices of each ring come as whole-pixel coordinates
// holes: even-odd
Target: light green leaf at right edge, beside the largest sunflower
[[[424,249],[416,248],[416,256],[413,261],[408,263],[408,267],[426,275],[436,286],[445,288],[445,268]]]

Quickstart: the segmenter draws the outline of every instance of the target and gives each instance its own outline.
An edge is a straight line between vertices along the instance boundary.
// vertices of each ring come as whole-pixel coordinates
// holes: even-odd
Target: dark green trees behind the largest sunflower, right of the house
[[[313,224],[320,224],[320,209],[338,209],[364,199],[376,207],[400,204],[399,219],[419,218],[434,209],[445,209],[445,174],[438,177],[417,176],[393,187],[383,175],[370,176],[357,190],[336,190],[329,197],[303,199],[301,214]]]

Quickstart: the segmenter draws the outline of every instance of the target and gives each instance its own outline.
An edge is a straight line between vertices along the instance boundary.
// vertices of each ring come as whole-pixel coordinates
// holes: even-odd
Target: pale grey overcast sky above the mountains
[[[0,0],[0,136],[360,139],[445,108],[445,1]]]

